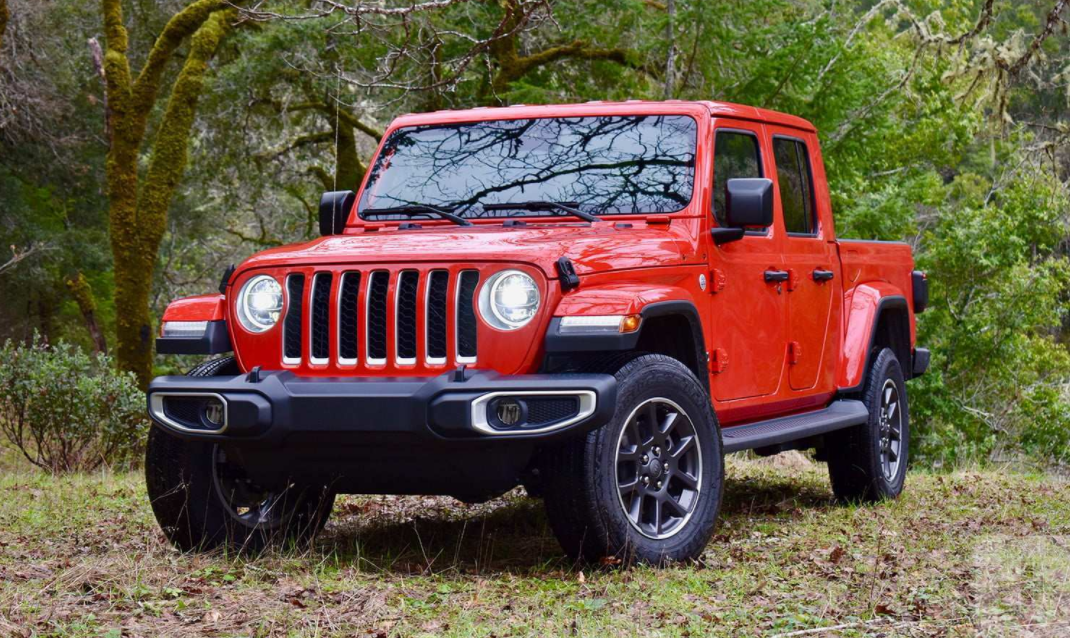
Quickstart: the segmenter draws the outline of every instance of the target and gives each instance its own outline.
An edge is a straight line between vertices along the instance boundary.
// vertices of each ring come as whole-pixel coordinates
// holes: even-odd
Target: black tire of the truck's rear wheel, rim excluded
[[[906,481],[911,421],[903,370],[888,348],[877,352],[872,361],[861,394],[869,409],[869,421],[825,438],[828,476],[832,492],[841,502],[893,499],[902,493]],[[893,389],[898,398],[895,412],[899,412],[897,424],[900,427],[898,465],[889,472],[890,477],[882,458],[882,401],[889,389]]]

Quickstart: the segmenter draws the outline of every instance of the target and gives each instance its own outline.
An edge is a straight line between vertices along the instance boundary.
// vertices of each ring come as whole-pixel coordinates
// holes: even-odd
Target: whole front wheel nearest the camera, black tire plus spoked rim
[[[660,354],[630,361],[616,379],[610,423],[547,453],[550,525],[577,559],[697,558],[713,534],[724,483],[709,398],[686,366]]]

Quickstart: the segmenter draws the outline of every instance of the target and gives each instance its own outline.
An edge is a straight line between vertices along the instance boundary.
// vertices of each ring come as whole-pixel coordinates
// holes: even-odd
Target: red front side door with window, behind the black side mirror
[[[770,178],[762,124],[717,119],[710,224],[725,226],[728,181]],[[776,225],[747,230],[743,239],[709,249],[710,391],[719,401],[763,397],[779,391],[784,362],[786,294],[765,282],[781,270]],[[768,405],[765,405],[768,408]]]

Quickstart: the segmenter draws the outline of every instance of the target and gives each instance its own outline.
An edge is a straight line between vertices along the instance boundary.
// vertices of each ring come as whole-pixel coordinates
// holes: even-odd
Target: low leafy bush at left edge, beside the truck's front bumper
[[[0,432],[31,464],[51,472],[131,464],[148,427],[144,394],[107,356],[37,335],[0,349]]]

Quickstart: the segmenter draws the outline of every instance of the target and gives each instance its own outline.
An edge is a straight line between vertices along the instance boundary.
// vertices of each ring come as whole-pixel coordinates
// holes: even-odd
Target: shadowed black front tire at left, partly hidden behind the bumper
[[[208,361],[190,377],[240,374],[233,358]],[[264,522],[242,521],[220,496],[215,444],[180,439],[154,425],[146,447],[152,512],[167,538],[184,551],[228,546],[257,551],[271,543],[304,543],[319,533],[334,505],[325,486],[290,485],[276,495]]]

